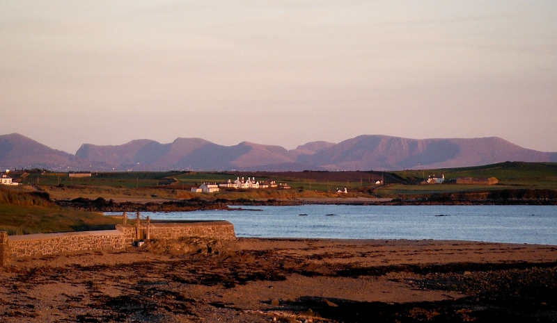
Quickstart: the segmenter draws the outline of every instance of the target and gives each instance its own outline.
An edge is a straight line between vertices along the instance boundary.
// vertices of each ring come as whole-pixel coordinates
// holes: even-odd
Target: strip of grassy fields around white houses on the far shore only
[[[394,175],[392,175],[394,174]],[[203,199],[294,199],[297,197],[338,197],[336,189],[347,188],[350,196],[409,197],[455,192],[496,192],[512,188],[557,190],[557,163],[507,162],[478,167],[450,169],[404,170],[388,173],[371,172],[111,172],[93,173],[91,177],[70,178],[66,173],[29,174],[30,181],[52,199],[86,197],[106,200],[175,200]],[[499,185],[375,185],[372,181],[400,176],[409,183],[421,181],[425,175],[444,174],[446,180],[458,177],[496,177]],[[256,176],[256,180],[288,183],[291,190],[224,190],[217,194],[194,194],[190,188],[203,182],[223,183],[237,177]],[[397,177],[398,178],[398,177]],[[36,185],[36,182],[40,185]],[[58,183],[60,185],[58,185]],[[347,195],[342,195],[347,196]]]

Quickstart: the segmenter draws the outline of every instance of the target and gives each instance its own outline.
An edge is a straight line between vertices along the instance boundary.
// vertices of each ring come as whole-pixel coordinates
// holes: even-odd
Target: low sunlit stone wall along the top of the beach
[[[234,226],[227,221],[212,222],[141,222],[138,226],[118,224],[116,230],[68,233],[10,235],[0,232],[0,265],[13,257],[45,256],[84,250],[117,250],[136,240],[177,239],[186,237],[234,240]]]

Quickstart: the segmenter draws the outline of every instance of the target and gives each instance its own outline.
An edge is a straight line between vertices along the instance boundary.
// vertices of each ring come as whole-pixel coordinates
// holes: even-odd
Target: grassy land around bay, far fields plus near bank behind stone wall
[[[417,184],[423,176],[444,174],[459,177],[496,177],[498,185]],[[203,182],[222,183],[237,177],[288,183],[290,190],[221,190],[213,194],[192,193],[191,186]],[[303,197],[391,197],[417,199],[435,194],[468,194],[485,198],[556,199],[557,163],[499,163],[480,167],[405,170],[389,174],[398,183],[375,185],[386,173],[368,172],[113,172],[72,178],[67,173],[35,172],[18,179],[22,185],[0,188],[0,230],[10,234],[113,229],[120,220],[97,213],[61,208],[56,199],[102,197],[120,201],[169,201],[201,197],[206,200],[291,200]],[[377,177],[379,176],[379,177]],[[400,176],[400,177],[399,177]],[[386,177],[385,177],[386,178]],[[30,184],[26,184],[30,183]],[[414,184],[412,184],[414,183]],[[347,188],[349,194],[336,194]]]

